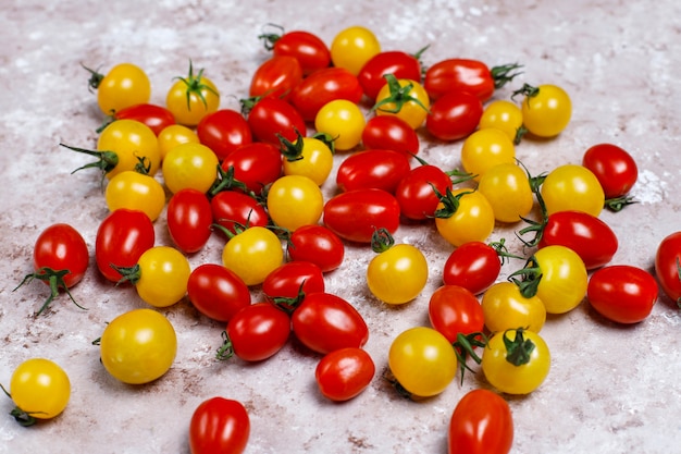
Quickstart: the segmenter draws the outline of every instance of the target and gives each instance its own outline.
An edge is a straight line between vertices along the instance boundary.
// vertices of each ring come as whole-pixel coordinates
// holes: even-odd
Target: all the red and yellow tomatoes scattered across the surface
[[[681,233],[660,244],[657,280],[608,265],[618,240],[598,216],[633,203],[637,169],[626,150],[596,144],[581,164],[540,175],[517,159],[522,140],[554,138],[569,125],[571,101],[559,86],[524,84],[493,100],[521,65],[453,58],[424,68],[428,49],[385,51],[359,26],[331,46],[309,32],[274,32],[261,36],[272,54],[252,75],[242,111],[221,108],[210,69],[191,62],[165,106],[149,103],[149,78],[134,64],[106,75],[88,70],[108,121],[95,149],[61,145],[92,157],[77,170],[101,172],[110,213],[95,235],[98,272],[134,285],[150,306],[121,314],[98,340],[116,379],[148,383],[172,367],[177,336],[154,309],[187,298],[224,324],[219,358],[267,360],[293,334],[319,355],[322,395],[358,396],[376,375],[362,348],[372,327],[361,306],[329,292],[325,274],[343,272],[346,245],[359,245],[372,254],[366,285],[377,300],[429,300],[431,326],[394,339],[385,379],[418,400],[442,393],[457,373],[465,380],[478,363],[490,389],[471,391],[454,409],[449,452],[507,453],[513,422],[504,395],[531,393],[548,375],[540,334],[547,314],[586,297],[605,318],[636,323],[651,314],[658,282],[681,297]],[[460,145],[461,169],[429,164],[424,139]],[[334,177],[325,197],[322,186]],[[154,223],[163,220],[172,244],[157,244]],[[404,224],[435,230],[451,246],[442,269],[417,245],[396,242]],[[498,225],[517,226],[527,255],[488,243]],[[222,262],[193,269],[187,257],[211,235],[224,238]],[[62,291],[78,304],[70,289],[89,261],[81,233],[48,226],[34,250],[34,271],[18,286],[49,284],[37,315]],[[502,281],[506,260],[523,265]],[[442,285],[422,295],[429,279]],[[251,300],[256,289],[264,300]],[[29,361],[8,391],[26,424],[60,414],[70,394],[58,365]],[[248,413],[215,396],[196,408],[188,431],[194,453],[242,452]]]

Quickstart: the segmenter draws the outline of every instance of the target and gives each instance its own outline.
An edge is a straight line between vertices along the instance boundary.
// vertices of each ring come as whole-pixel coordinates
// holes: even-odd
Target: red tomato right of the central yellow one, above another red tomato
[[[290,234],[287,253],[290,260],[315,263],[325,273],[340,267],[345,245],[324,225],[302,225]]]

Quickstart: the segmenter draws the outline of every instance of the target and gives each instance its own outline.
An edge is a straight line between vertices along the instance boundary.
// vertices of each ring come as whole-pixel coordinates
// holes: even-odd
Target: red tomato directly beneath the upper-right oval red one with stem
[[[482,102],[475,95],[453,90],[431,105],[425,128],[439,140],[459,140],[478,128],[482,112]]]

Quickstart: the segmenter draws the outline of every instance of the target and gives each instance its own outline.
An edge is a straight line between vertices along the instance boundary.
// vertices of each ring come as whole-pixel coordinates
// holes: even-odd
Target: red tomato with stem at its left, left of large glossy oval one
[[[245,361],[262,361],[286,345],[290,336],[290,318],[270,303],[256,303],[230,319],[226,333],[237,357]]]

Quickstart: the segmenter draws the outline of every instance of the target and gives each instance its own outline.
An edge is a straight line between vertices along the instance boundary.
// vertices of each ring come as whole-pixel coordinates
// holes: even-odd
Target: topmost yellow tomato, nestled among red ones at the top
[[[369,28],[351,26],[334,36],[330,51],[334,66],[345,68],[357,75],[372,57],[381,52],[381,44]]]

